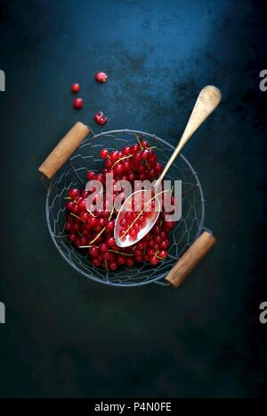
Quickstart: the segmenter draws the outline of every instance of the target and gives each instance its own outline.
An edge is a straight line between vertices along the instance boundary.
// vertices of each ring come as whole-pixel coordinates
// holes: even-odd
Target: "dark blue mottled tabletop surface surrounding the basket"
[[[263,4],[0,4],[0,395],[265,395]],[[106,85],[95,71],[108,72]],[[83,85],[80,112],[73,81]],[[222,89],[223,102],[184,154],[204,188],[213,252],[178,291],[77,276],[48,235],[38,164],[75,121],[93,125],[98,110],[109,129],[175,144],[206,84]]]

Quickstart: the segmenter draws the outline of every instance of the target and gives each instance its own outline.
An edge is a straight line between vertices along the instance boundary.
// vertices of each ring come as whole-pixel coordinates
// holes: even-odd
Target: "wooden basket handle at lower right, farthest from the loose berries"
[[[174,287],[181,285],[183,280],[190,274],[190,271],[198,264],[205,254],[214,245],[215,238],[208,232],[204,231],[200,237],[190,246],[181,259],[169,271],[166,280]]]

